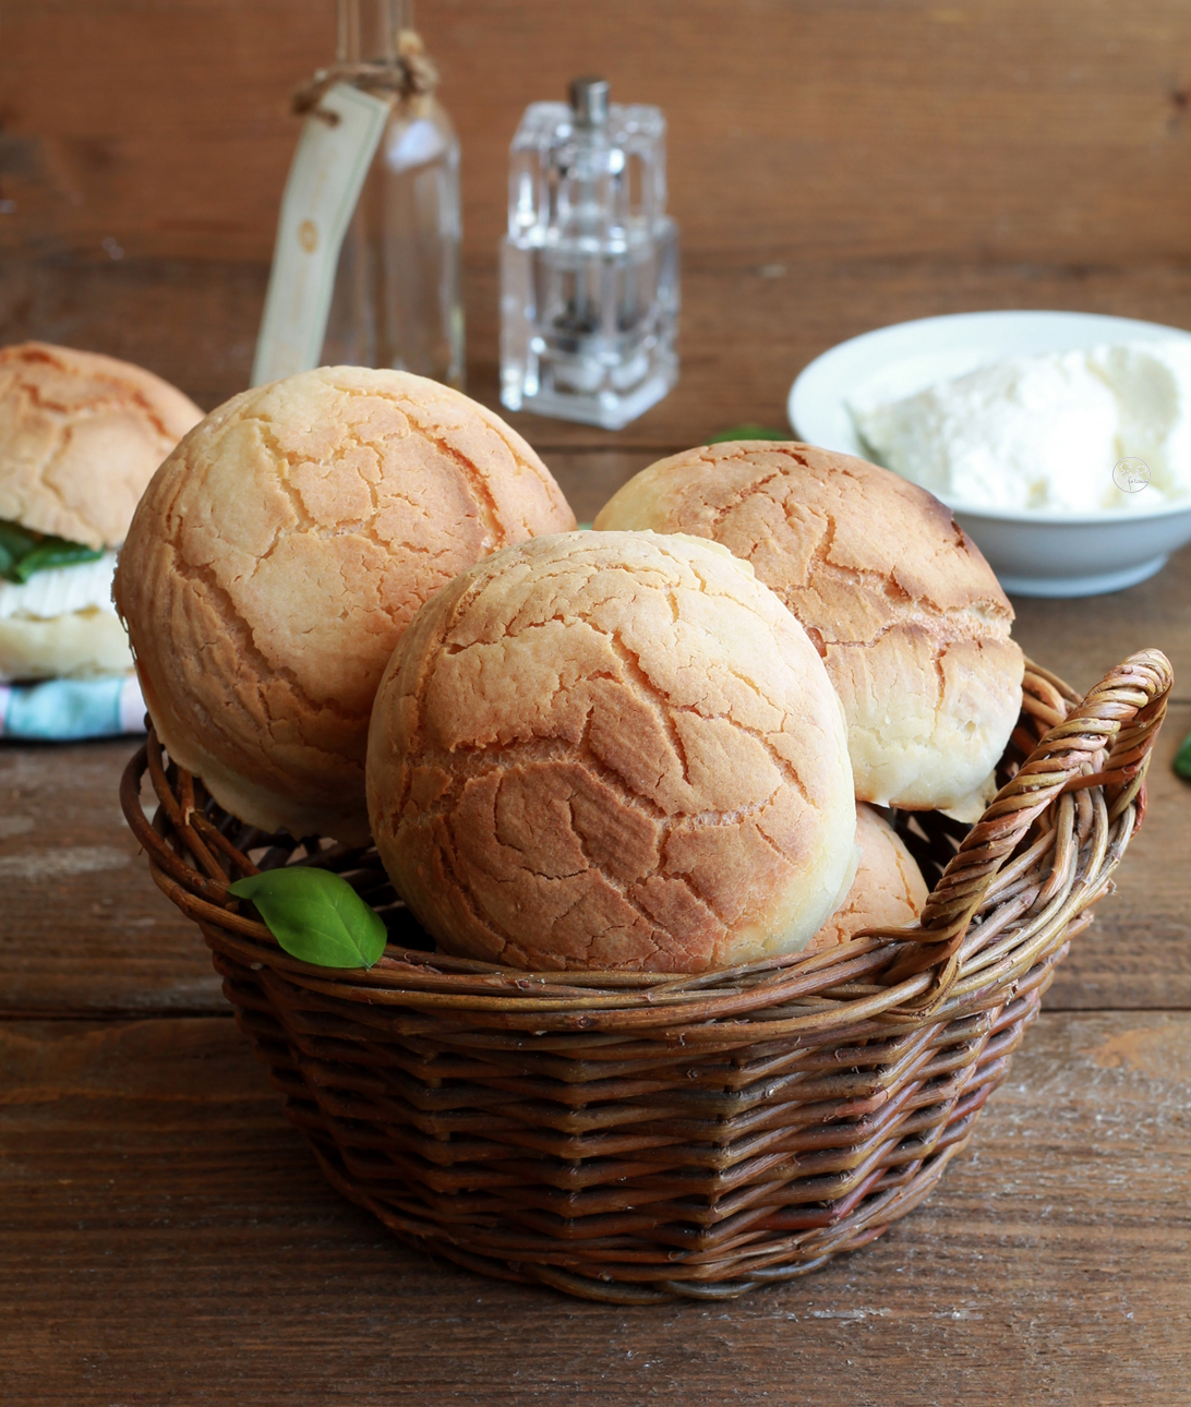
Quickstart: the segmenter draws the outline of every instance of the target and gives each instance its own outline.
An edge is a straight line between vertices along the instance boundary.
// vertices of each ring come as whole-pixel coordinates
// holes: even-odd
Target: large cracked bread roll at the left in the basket
[[[162,464],[120,554],[162,741],[243,820],[366,840],[368,713],[409,619],[574,525],[529,445],[436,381],[321,367],[233,397]]]

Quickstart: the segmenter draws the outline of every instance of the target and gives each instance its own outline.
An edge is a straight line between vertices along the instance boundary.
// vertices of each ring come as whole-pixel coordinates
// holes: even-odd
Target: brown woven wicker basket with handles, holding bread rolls
[[[901,817],[934,882],[918,929],[700,976],[427,951],[375,851],[243,826],[152,733],[121,795],[340,1192],[485,1275],[719,1299],[872,1241],[965,1147],[1140,823],[1170,685],[1157,651],[1083,701],[1029,666],[983,819]],[[374,968],[300,962],[228,898],[229,878],[287,862],[337,870],[385,915]]]

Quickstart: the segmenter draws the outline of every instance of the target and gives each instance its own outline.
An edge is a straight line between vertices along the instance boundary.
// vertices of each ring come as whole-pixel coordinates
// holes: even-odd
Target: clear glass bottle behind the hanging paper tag
[[[336,0],[337,62],[397,66],[409,0]],[[367,86],[367,84],[364,84]],[[394,101],[343,238],[322,362],[463,387],[458,138],[442,104]]]

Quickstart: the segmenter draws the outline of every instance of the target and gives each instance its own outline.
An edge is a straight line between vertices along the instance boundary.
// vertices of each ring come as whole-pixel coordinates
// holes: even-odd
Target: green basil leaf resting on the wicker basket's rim
[[[228,885],[250,899],[281,947],[316,967],[371,967],[385,950],[384,919],[329,870],[290,865]]]

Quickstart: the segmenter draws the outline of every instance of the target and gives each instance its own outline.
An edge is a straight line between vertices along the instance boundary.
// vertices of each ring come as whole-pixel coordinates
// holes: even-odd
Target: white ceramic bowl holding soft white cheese
[[[799,439],[868,457],[848,400],[894,400],[932,381],[963,376],[1008,356],[1069,352],[1104,342],[1191,342],[1191,332],[1090,312],[959,312],[866,332],[824,352],[790,388],[787,412]],[[1191,542],[1191,504],[1150,512],[1073,516],[990,512],[946,499],[1007,591],[1084,597],[1152,577]]]

